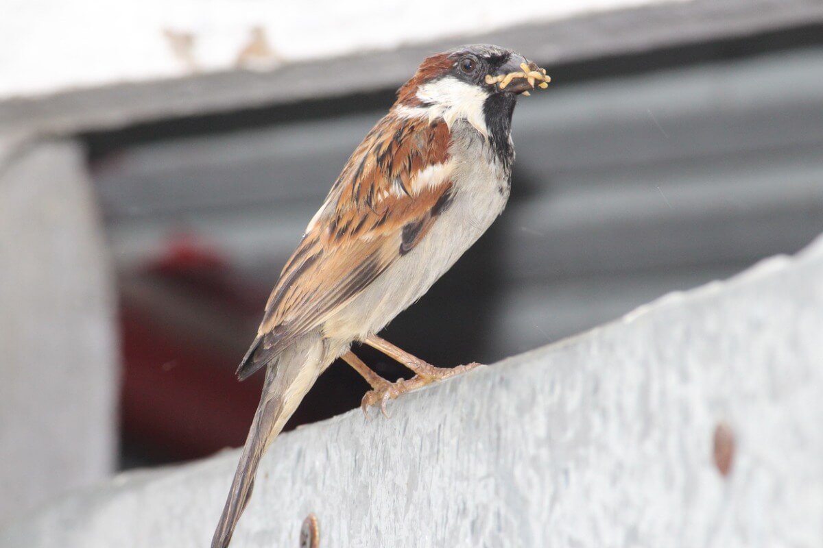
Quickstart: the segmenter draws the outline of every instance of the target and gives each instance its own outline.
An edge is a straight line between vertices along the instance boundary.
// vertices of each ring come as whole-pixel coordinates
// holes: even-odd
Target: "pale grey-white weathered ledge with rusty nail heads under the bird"
[[[283,435],[232,546],[823,546],[823,241]],[[713,459],[716,426],[731,470]],[[124,474],[0,546],[207,546],[237,453]]]

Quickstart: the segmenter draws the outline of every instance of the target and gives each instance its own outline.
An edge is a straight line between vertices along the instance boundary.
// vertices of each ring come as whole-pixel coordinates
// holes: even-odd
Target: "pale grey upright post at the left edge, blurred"
[[[0,138],[0,522],[114,470],[114,318],[81,148]]]

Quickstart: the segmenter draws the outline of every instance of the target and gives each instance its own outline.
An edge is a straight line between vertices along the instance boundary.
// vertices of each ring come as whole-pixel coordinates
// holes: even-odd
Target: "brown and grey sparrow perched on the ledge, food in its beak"
[[[376,334],[416,302],[502,213],[509,199],[511,123],[520,94],[546,70],[491,44],[426,58],[346,162],[269,297],[237,370],[265,368],[212,548],[226,548],[263,453],[318,376],[342,358],[369,383],[364,412],[476,367],[435,367]],[[366,344],[415,375],[390,383],[351,350]]]

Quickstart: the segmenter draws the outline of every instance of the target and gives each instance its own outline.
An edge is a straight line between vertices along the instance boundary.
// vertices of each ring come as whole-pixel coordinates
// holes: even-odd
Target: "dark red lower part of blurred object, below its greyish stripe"
[[[238,356],[186,346],[145,312],[126,307],[121,314],[125,434],[179,459],[242,445],[262,376],[239,383]]]

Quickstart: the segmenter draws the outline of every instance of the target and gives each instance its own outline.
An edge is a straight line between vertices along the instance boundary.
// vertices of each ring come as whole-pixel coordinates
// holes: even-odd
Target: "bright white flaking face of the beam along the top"
[[[495,2],[474,0],[417,0],[413,7],[374,0],[350,0],[342,7],[336,0],[314,0],[311,9],[274,9],[266,0],[246,0],[242,6],[214,0],[207,7],[198,0],[175,0],[172,9],[164,0],[128,7],[95,0],[72,0],[65,7],[61,0],[41,0],[32,10],[26,0],[6,0],[0,35],[14,54],[0,54],[0,99],[239,67],[271,70],[677,1],[556,0],[519,2],[501,10]],[[56,48],[61,55],[54,55]]]

